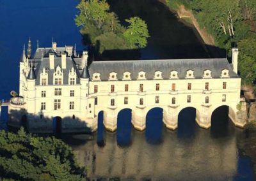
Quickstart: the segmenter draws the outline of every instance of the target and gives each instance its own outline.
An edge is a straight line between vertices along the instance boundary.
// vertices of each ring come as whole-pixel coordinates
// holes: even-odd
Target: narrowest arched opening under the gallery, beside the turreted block
[[[105,133],[105,127],[103,124],[104,121],[104,112],[100,111],[98,113],[98,129],[97,129],[97,144],[100,147],[104,147],[105,141],[104,141],[104,133]]]

